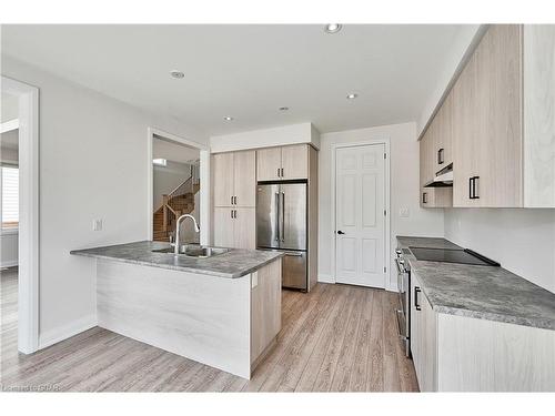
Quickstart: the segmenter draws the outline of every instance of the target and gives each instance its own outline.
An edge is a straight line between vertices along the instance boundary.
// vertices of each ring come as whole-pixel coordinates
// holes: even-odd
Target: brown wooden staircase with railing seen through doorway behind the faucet
[[[154,241],[170,241],[175,232],[175,222],[183,214],[194,210],[194,195],[201,187],[199,177],[199,161],[191,165],[191,175],[168,195],[162,196],[162,206],[153,214]]]

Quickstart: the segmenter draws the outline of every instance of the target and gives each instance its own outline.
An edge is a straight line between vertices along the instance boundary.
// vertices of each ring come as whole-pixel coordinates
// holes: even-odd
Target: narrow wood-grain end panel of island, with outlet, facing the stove
[[[251,276],[251,372],[281,331],[281,267],[280,257]]]

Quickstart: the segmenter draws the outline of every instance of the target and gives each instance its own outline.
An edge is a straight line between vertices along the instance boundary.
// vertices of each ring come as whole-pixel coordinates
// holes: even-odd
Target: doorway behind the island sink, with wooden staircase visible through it
[[[149,131],[150,199],[149,235],[152,241],[173,242],[178,219],[192,215],[201,227],[195,232],[191,222],[181,223],[180,243],[206,244],[208,150],[161,131]],[[202,168],[201,168],[202,166]]]

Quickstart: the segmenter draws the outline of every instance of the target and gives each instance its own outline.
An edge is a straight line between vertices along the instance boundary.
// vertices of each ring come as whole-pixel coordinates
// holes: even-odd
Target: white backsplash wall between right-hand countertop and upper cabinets
[[[555,210],[448,209],[445,237],[555,292]]]

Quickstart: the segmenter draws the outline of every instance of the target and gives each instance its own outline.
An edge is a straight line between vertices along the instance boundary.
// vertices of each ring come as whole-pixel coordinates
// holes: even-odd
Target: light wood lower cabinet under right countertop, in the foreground
[[[411,296],[422,392],[555,390],[555,331],[436,313],[415,273]]]

